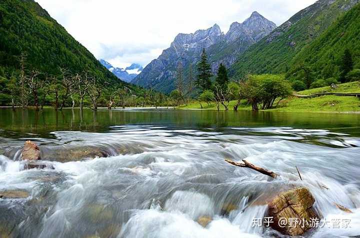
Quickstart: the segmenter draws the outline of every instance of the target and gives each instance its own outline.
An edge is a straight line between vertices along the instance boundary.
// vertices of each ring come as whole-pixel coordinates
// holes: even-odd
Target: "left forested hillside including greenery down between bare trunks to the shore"
[[[20,55],[23,55],[22,76],[20,75]],[[22,82],[23,95],[25,93],[38,94],[38,89],[44,89],[39,88],[40,84],[48,86],[47,81],[44,83],[44,78],[48,79],[49,76],[57,79],[52,80],[52,86],[56,88],[56,97],[64,91],[66,96],[64,101],[68,105],[68,91],[71,88],[69,85],[64,85],[62,79],[65,75],[60,72],[60,68],[66,72],[66,78],[70,75],[86,73],[94,80],[96,79],[101,89],[126,86],[131,94],[140,95],[144,92],[143,89],[116,78],[35,1],[1,0],[0,105],[9,105],[11,97],[12,100],[19,100],[15,96],[19,94],[16,89],[21,86],[21,77],[27,82],[27,84]],[[33,77],[34,75],[36,77]],[[32,85],[29,84],[29,80]],[[29,88],[31,86],[36,87],[36,91],[31,92]],[[24,92],[24,88],[28,88],[29,91]],[[54,89],[47,88],[45,91],[49,94],[49,91],[54,91]],[[72,88],[73,91],[74,88]],[[34,95],[29,96],[29,100],[32,100],[32,97]],[[54,97],[54,95],[46,95],[46,97],[46,104],[49,104],[51,101],[49,97]],[[33,104],[31,101],[28,103]]]

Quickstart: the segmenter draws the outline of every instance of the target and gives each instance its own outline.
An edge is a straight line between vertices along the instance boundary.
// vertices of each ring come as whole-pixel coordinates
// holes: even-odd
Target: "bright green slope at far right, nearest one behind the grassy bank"
[[[292,60],[290,74],[308,65],[316,78],[338,78],[341,57],[348,49],[355,68],[360,68],[360,3],[335,21]]]

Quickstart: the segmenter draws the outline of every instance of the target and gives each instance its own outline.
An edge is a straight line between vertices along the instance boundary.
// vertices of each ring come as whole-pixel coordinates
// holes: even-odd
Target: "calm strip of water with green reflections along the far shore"
[[[64,109],[43,111],[0,109],[0,128],[18,132],[47,133],[58,130],[104,131],[108,126],[123,124],[173,125],[181,127],[223,128],[291,126],[342,130],[359,135],[360,114],[281,113],[213,110],[100,110]]]

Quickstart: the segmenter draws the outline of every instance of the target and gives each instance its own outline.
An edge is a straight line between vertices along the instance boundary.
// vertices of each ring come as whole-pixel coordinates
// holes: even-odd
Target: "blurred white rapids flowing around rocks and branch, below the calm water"
[[[113,156],[52,162],[54,170],[23,170],[21,161],[0,155],[0,191],[29,193],[25,199],[0,199],[0,224],[8,224],[14,236],[284,237],[252,226],[254,218],[266,215],[266,206],[251,203],[296,186],[310,190],[323,220],[350,221],[347,228],[325,226],[305,237],[360,236],[360,138],[289,127],[199,131],[129,125],[106,133],[52,134],[64,146],[106,146]],[[115,155],[112,148],[119,145],[136,150]],[[270,181],[224,159],[246,159],[280,177]],[[228,204],[233,209],[224,214]],[[206,227],[197,223],[202,216],[211,218]]]

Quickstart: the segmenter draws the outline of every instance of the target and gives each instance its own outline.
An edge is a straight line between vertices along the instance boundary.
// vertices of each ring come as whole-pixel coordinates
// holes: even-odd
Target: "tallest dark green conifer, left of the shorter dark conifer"
[[[200,89],[200,92],[210,89],[212,77],[211,67],[207,62],[205,49],[202,49],[201,59],[197,65],[198,74],[196,76],[195,84]]]

